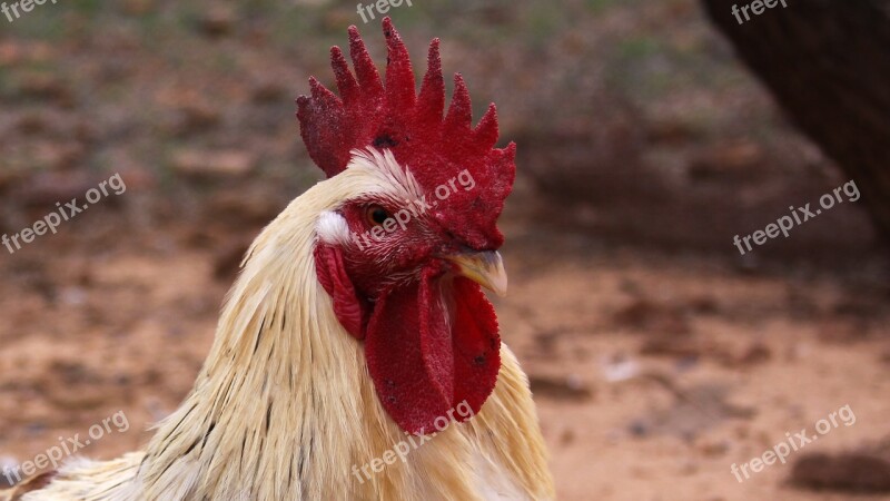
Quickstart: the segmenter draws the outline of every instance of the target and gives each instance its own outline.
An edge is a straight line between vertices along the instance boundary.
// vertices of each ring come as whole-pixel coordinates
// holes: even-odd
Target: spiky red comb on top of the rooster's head
[[[494,104],[473,128],[469,92],[459,73],[454,77],[454,97],[445,111],[445,80],[438,39],[429,43],[428,67],[421,92],[415,92],[414,71],[405,43],[389,18],[383,20],[386,37],[386,81],[380,79],[358,29],[349,27],[349,55],[355,76],[338,47],[330,49],[330,62],[340,97],[309,79],[309,96],[297,99],[300,135],[312,159],[328,177],[342,173],[353,149],[368,146],[390,149],[424,189],[432,193],[466,169],[476,183],[469,191],[458,190],[441,204],[434,215],[467,218],[475,224],[463,235],[473,247],[497,247],[503,237],[495,220],[513,188],[516,147],[494,148],[497,112]]]

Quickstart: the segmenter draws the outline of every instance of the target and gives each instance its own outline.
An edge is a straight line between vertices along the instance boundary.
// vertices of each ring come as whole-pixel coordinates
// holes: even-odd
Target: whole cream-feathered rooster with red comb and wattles
[[[527,377],[481,288],[506,287],[515,145],[495,148],[494,105],[472,126],[459,73],[445,112],[438,39],[417,94],[383,30],[383,79],[350,27],[355,75],[330,52],[339,97],[312,78],[297,99],[328,178],[248,250],[181,406],[145,450],[70,460],[0,499],[554,498]]]

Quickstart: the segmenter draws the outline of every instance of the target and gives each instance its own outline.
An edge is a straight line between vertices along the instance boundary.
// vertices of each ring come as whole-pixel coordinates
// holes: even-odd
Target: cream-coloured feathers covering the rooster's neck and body
[[[317,227],[344,200],[416,190],[388,153],[355,151],[349,168],[294,200],[256,239],[194,390],[144,451],[73,460],[49,485],[0,499],[553,499],[528,381],[506,345],[479,414],[452,423],[405,463],[369,480],[354,474],[353,465],[406,436],[375,395],[363,343],[340,326],[318,283]]]

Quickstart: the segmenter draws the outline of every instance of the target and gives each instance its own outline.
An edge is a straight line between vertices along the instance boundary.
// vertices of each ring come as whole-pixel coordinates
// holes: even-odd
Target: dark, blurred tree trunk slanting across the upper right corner
[[[702,0],[797,126],[856,180],[890,240],[890,0],[770,0],[760,14],[746,1]]]

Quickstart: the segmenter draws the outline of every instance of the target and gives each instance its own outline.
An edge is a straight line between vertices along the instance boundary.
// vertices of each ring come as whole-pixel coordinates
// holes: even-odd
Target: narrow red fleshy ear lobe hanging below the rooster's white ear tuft
[[[370,307],[346,274],[343,250],[319,242],[315,247],[315,272],[318,282],[334,303],[334,314],[343,328],[356,340],[364,340]]]

